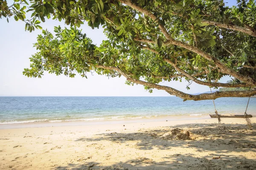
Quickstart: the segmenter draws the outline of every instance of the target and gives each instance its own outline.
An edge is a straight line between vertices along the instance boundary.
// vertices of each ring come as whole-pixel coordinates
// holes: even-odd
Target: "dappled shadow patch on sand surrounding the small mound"
[[[252,124],[253,128],[249,129],[246,125],[233,124],[186,124],[166,127],[160,130],[145,130],[136,133],[102,133],[96,135],[96,138],[79,138],[76,141],[82,142],[98,142],[108,140],[116,143],[123,143],[128,141],[137,141],[137,148],[140,150],[152,150],[155,147],[158,149],[169,149],[171,147],[185,146],[189,143],[189,147],[198,147],[202,142],[209,142],[212,147],[220,144],[230,145],[236,144],[235,149],[256,147],[256,124]],[[196,140],[163,140],[152,136],[169,132],[173,128],[185,128],[198,136]],[[215,148],[213,148],[215,149]],[[198,148],[198,150],[211,150],[210,148]],[[217,150],[218,151],[218,150]],[[220,150],[221,153],[225,151]]]

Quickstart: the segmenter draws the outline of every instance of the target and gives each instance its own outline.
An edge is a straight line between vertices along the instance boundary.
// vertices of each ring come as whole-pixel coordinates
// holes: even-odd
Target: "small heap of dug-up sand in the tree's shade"
[[[180,128],[172,129],[171,131],[164,133],[162,136],[157,137],[168,140],[195,140],[195,135],[192,132]]]

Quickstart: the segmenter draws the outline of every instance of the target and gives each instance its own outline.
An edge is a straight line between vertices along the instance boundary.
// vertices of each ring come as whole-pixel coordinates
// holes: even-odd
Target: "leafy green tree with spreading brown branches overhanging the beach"
[[[25,9],[28,8],[27,11]],[[31,13],[31,18],[26,15]],[[244,97],[256,94],[256,5],[238,0],[0,0],[0,17],[41,28],[45,18],[65,20],[70,29],[55,27],[38,35],[30,68],[23,74],[41,77],[44,71],[82,77],[90,70],[126,84],[141,84],[152,92],[164,90],[184,100]],[[79,31],[87,22],[104,28],[107,41],[97,47]],[[233,81],[220,83],[221,77]],[[87,78],[87,77],[86,77]],[[190,95],[159,85],[161,81],[195,82],[209,87],[244,88]],[[187,86],[189,88],[189,86]]]

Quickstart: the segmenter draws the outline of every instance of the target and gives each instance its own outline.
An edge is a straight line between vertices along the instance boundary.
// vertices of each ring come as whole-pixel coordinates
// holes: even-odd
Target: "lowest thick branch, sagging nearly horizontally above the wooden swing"
[[[216,91],[215,93],[211,93],[211,94],[199,94],[199,95],[190,95],[190,94],[186,94],[183,93],[181,91],[178,91],[174,88],[168,87],[168,86],[164,86],[164,85],[157,85],[151,82],[145,82],[142,80],[138,80],[138,79],[134,79],[131,78],[128,74],[124,73],[120,68],[118,67],[112,67],[112,66],[106,66],[106,65],[95,65],[94,67],[96,68],[104,68],[104,69],[108,69],[108,70],[114,70],[119,72],[122,76],[124,76],[128,81],[140,84],[140,85],[145,85],[151,88],[156,88],[159,90],[164,90],[166,92],[168,92],[171,95],[175,95],[178,96],[182,99],[184,99],[183,101],[186,100],[206,100],[206,99],[217,99],[219,97],[248,97],[248,96],[253,96],[256,94],[256,88],[253,88],[251,90],[248,91]]]

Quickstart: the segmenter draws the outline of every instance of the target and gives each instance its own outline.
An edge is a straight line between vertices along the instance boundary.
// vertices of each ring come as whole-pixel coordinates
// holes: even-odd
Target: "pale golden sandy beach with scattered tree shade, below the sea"
[[[251,129],[244,119],[0,129],[0,169],[255,170],[256,118],[251,121]],[[175,128],[193,140],[163,137]]]

